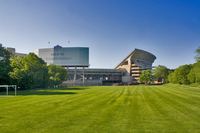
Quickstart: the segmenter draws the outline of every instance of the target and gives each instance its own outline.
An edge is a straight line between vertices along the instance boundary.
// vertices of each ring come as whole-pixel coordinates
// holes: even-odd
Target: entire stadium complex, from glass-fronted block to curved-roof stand
[[[115,69],[89,68],[88,47],[43,48],[38,55],[47,64],[63,66],[68,71],[68,85],[132,84],[139,82],[142,70],[151,69],[156,57],[144,50],[135,49]]]

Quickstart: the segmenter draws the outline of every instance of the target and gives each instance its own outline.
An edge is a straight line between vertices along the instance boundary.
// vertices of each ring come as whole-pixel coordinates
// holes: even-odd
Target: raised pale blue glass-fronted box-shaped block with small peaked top
[[[38,56],[47,64],[55,64],[63,67],[88,67],[88,47],[61,47],[43,48],[38,50]]]

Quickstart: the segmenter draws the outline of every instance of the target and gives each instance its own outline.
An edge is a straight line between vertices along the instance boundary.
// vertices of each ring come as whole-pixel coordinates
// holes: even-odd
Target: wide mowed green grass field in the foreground
[[[200,88],[75,87],[0,96],[0,133],[199,133]]]

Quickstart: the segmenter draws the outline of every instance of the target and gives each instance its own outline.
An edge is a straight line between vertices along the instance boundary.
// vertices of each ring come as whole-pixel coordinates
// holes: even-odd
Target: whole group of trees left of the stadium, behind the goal
[[[15,84],[19,89],[54,87],[67,78],[61,66],[47,65],[34,53],[14,56],[0,47],[0,84]]]

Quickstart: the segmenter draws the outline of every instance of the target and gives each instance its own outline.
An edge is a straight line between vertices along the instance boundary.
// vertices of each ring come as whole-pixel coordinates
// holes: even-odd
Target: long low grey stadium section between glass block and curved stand
[[[68,69],[68,85],[112,85],[121,83],[123,73],[116,69]]]

